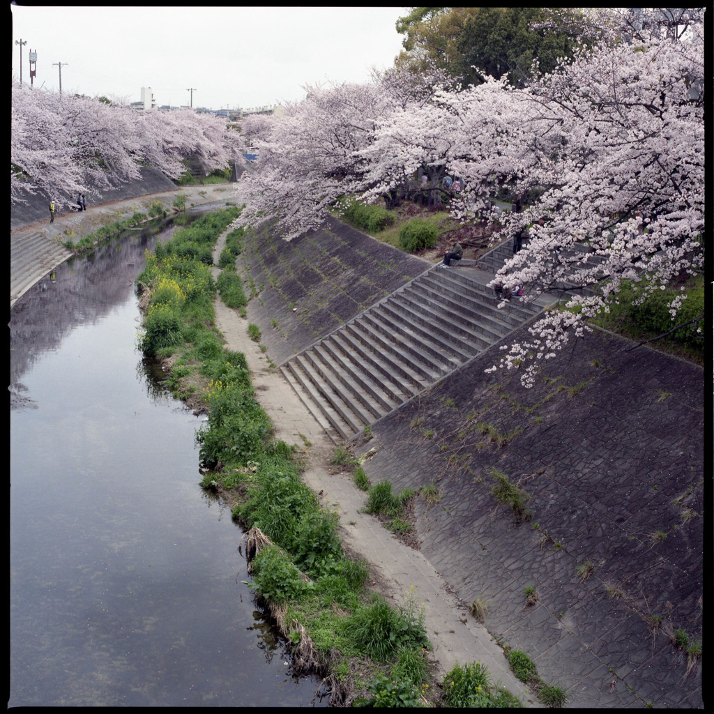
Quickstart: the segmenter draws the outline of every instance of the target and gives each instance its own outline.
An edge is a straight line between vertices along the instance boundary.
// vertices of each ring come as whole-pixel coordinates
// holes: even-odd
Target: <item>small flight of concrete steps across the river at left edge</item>
[[[72,256],[61,243],[39,232],[11,236],[10,307],[40,278]]]

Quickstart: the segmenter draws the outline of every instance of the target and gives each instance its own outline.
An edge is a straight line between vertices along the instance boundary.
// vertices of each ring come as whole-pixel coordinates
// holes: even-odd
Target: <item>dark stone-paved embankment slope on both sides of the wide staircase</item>
[[[338,221],[292,243],[253,233],[238,258],[278,364],[426,267]],[[701,639],[703,373],[631,346],[596,331],[529,391],[484,373],[492,347],[374,423],[361,450],[378,449],[373,483],[440,488],[416,505],[422,553],[569,705],[699,707],[700,665],[673,635]],[[497,503],[498,473],[527,520]]]

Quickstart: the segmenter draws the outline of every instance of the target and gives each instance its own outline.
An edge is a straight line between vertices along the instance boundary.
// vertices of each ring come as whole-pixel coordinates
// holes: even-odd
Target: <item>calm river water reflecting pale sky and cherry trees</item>
[[[201,418],[136,350],[158,236],[56,269],[11,311],[9,706],[310,706],[203,493]]]

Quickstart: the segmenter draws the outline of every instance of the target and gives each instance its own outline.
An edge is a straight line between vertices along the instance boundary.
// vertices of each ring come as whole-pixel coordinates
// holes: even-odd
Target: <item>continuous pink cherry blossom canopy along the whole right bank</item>
[[[540,360],[609,311],[623,281],[642,301],[703,265],[702,19],[696,9],[584,13],[587,42],[519,88],[485,74],[466,89],[427,89],[423,78],[410,88],[387,73],[312,89],[261,126],[258,171],[239,186],[240,220],[276,219],[296,236],[339,196],[389,205],[419,167],[432,182],[445,172],[463,179],[450,208],[464,222],[504,187],[528,193],[526,210],[502,216],[495,238],[528,227],[531,240],[495,279],[525,286],[523,299],[570,291],[498,365],[523,368],[528,386]],[[671,301],[673,320],[685,299]]]

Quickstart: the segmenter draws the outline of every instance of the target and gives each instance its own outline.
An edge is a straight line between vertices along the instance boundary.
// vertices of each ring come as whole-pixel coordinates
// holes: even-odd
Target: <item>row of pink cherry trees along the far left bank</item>
[[[133,181],[144,164],[178,178],[189,156],[209,174],[227,166],[237,147],[237,131],[218,117],[191,110],[137,114],[84,96],[12,86],[11,201]]]

